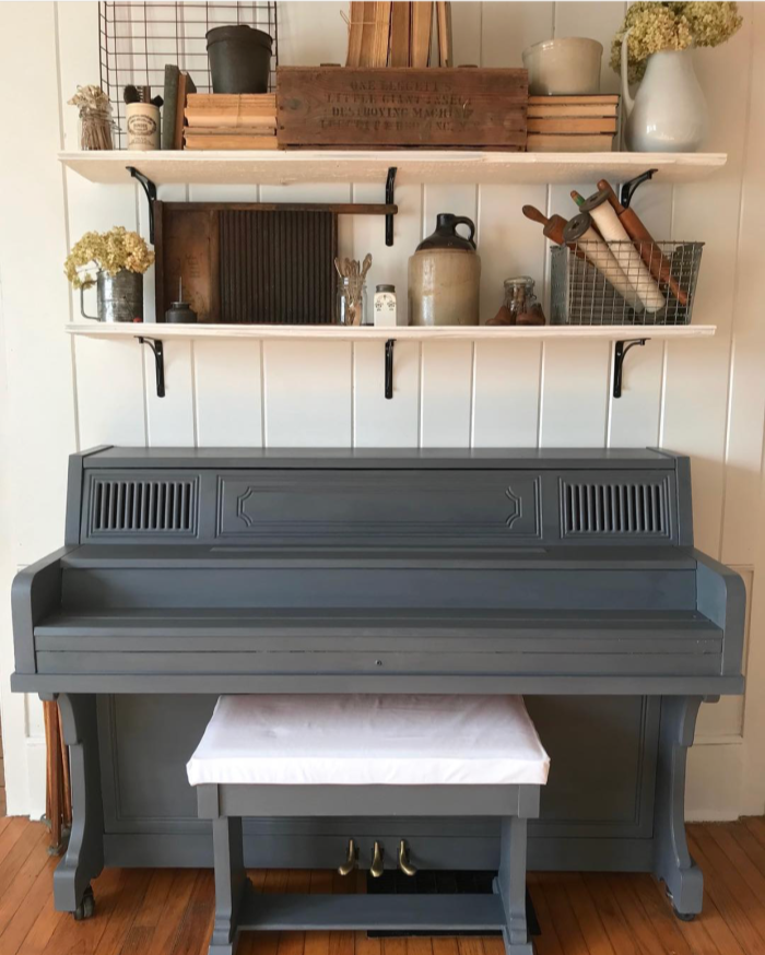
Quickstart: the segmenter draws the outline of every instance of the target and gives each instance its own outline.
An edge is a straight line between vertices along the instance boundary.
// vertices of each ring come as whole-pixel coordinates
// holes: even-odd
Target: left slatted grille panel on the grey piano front
[[[191,533],[197,523],[196,481],[106,481],[92,488],[94,533]]]

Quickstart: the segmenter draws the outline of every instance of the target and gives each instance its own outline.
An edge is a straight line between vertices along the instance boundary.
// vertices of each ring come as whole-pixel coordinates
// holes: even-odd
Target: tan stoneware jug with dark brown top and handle
[[[457,232],[467,225],[470,237]],[[478,325],[481,259],[475,225],[463,215],[442,212],[436,231],[409,260],[410,325]]]

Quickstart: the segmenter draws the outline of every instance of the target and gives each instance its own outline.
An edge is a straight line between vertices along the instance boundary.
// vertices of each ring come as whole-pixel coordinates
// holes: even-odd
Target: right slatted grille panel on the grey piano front
[[[561,492],[564,538],[671,535],[666,481],[634,484],[564,481]]]

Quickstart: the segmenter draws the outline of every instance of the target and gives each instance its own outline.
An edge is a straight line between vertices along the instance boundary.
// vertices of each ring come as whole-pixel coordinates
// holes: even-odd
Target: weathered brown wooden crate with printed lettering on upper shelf
[[[526,148],[526,70],[280,67],[279,144]]]

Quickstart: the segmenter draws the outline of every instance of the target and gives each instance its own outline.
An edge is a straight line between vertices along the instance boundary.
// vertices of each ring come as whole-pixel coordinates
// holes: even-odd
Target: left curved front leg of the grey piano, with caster
[[[93,915],[91,880],[104,868],[104,812],[101,798],[98,727],[93,694],[60,694],[63,741],[69,746],[72,830],[67,852],[54,873],[58,911],[75,919]]]

